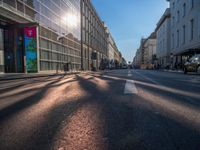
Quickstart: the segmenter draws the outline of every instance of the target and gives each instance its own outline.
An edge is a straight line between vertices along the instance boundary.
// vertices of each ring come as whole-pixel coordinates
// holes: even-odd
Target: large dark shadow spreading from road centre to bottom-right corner
[[[107,139],[105,144],[109,150],[173,150],[199,148],[199,132],[181,124],[180,122],[163,114],[155,114],[145,98],[135,96],[136,99],[143,101],[136,106],[130,105],[131,95],[123,94],[124,81],[108,79],[102,76],[98,78],[109,83],[109,89],[99,89],[97,85],[90,81],[77,77],[81,87],[90,93],[80,107],[89,103],[95,103],[103,109],[102,118],[105,119],[103,133]],[[77,109],[79,109],[78,107]],[[95,112],[94,112],[95,113]],[[152,118],[156,118],[152,121]],[[159,127],[161,124],[167,124]],[[169,128],[172,130],[169,130]],[[169,131],[168,131],[169,130]],[[178,132],[177,132],[178,131]]]

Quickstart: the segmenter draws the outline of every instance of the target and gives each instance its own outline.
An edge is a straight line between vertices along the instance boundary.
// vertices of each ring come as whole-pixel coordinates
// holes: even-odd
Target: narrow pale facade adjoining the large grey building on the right
[[[167,8],[156,27],[156,57],[161,68],[171,66],[171,15]]]

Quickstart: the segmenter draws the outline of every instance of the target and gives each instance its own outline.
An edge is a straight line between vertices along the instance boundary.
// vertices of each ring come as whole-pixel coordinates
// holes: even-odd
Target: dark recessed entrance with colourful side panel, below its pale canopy
[[[36,73],[37,27],[17,24],[0,25],[2,53],[0,61],[5,73]],[[2,72],[1,71],[1,72]]]

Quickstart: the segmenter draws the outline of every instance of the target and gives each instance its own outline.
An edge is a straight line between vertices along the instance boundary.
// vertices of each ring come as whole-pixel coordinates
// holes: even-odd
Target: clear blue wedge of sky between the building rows
[[[148,37],[168,7],[166,0],[91,0],[127,61]]]

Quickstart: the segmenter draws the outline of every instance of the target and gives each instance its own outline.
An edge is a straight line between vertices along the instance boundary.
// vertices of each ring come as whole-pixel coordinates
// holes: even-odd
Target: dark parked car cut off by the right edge
[[[200,54],[195,55],[184,64],[184,73],[197,72],[200,73]]]

